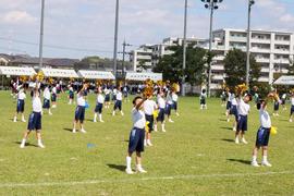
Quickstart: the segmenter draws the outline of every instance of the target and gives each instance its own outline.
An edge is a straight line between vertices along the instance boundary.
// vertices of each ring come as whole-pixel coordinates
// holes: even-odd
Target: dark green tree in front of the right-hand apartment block
[[[246,53],[240,49],[233,49],[228,52],[224,60],[225,83],[234,87],[246,82]],[[250,56],[249,83],[255,84],[260,77],[261,66]]]

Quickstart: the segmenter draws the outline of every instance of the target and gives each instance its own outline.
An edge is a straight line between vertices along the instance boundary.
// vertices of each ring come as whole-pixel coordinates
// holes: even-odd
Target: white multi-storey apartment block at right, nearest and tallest
[[[217,56],[212,62],[212,88],[223,83],[223,59],[233,48],[246,51],[247,32],[245,29],[223,28],[213,32],[213,50]],[[274,73],[286,73],[290,60],[294,56],[294,34],[287,32],[253,30],[250,53],[261,64],[260,82],[271,84]]]

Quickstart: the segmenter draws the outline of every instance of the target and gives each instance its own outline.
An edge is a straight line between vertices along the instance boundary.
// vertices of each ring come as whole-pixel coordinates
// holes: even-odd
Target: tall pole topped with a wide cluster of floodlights
[[[219,9],[218,3],[221,3],[223,0],[201,0],[205,3],[205,8],[210,10],[210,27],[209,27],[209,53],[212,51],[212,26],[213,26],[213,12]],[[211,87],[211,61],[208,64],[208,76],[207,76],[207,94],[210,97],[210,87]]]

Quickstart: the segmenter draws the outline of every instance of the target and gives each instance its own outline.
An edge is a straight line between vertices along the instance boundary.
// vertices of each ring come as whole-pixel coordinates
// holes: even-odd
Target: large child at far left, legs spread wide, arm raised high
[[[38,86],[38,84],[36,86]],[[40,133],[41,132],[41,112],[42,112],[42,108],[41,108],[40,93],[39,93],[38,87],[36,87],[33,91],[33,112],[29,115],[27,131],[24,133],[24,137],[20,146],[21,148],[25,147],[25,143],[32,131],[36,131],[36,136],[38,139],[38,147],[45,148],[41,142],[41,133]]]

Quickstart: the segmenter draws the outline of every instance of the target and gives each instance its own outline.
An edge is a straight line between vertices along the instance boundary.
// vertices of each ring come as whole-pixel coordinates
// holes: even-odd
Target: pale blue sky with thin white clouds
[[[44,57],[113,56],[115,0],[45,0]],[[254,29],[294,32],[294,0],[255,0]],[[0,53],[38,56],[41,0],[0,0]],[[183,37],[184,0],[120,0],[122,42],[159,44]],[[188,0],[187,36],[208,38],[209,10]],[[213,29],[246,28],[247,0],[223,0]]]

